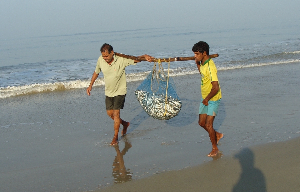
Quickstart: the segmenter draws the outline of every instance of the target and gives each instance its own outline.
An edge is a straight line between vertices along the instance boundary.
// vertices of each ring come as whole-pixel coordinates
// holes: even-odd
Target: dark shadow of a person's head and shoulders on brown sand
[[[240,161],[242,173],[232,192],[266,192],[266,181],[262,172],[254,167],[254,154],[245,148],[236,155]]]

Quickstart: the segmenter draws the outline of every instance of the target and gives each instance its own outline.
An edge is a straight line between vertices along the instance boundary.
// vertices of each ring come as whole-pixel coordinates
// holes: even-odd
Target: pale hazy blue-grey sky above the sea
[[[299,7],[299,0],[0,0],[0,39],[175,26],[299,25]]]

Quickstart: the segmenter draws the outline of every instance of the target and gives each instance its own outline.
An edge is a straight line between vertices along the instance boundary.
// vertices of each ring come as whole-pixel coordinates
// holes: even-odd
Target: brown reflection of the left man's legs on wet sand
[[[113,160],[113,182],[122,183],[132,180],[132,173],[130,172],[130,169],[126,170],[125,162],[123,159],[123,156],[132,147],[132,145],[127,140],[125,140],[125,147],[122,151],[120,151],[118,144],[113,145],[113,147],[117,152],[117,156],[115,157],[115,160]]]

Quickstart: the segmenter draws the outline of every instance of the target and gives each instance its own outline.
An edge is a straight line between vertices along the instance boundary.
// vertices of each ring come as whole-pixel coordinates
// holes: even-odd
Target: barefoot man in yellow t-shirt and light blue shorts
[[[195,54],[195,61],[201,74],[201,103],[199,107],[199,125],[203,127],[209,135],[212,142],[212,151],[209,157],[216,156],[219,152],[217,144],[223,137],[213,129],[213,120],[217,115],[220,100],[222,97],[221,89],[217,77],[217,68],[215,63],[209,57],[209,46],[206,42],[197,42],[192,51]]]

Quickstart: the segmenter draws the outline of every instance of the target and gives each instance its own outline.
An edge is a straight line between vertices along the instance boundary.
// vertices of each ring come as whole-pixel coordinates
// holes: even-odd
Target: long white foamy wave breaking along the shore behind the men
[[[253,63],[248,65],[238,65],[238,66],[217,67],[217,69],[230,70],[230,69],[238,69],[238,68],[246,68],[246,67],[292,63],[292,62],[300,62],[300,59],[291,59],[287,61],[278,61],[278,62]],[[168,69],[164,69],[164,71],[167,74]],[[128,82],[144,80],[149,72],[150,71],[144,71],[139,73],[126,74],[126,80]],[[183,75],[196,74],[196,73],[199,73],[197,69],[178,67],[176,69],[170,69],[169,75],[183,76]],[[90,81],[91,81],[90,79],[87,79],[87,80],[74,80],[74,81],[54,82],[54,83],[35,83],[35,84],[23,85],[23,86],[0,87],[0,98],[7,98],[7,97],[25,95],[25,94],[36,94],[36,93],[48,92],[48,91],[86,88],[89,86]],[[105,85],[103,77],[98,78],[95,81],[93,86],[102,86],[102,85]]]

